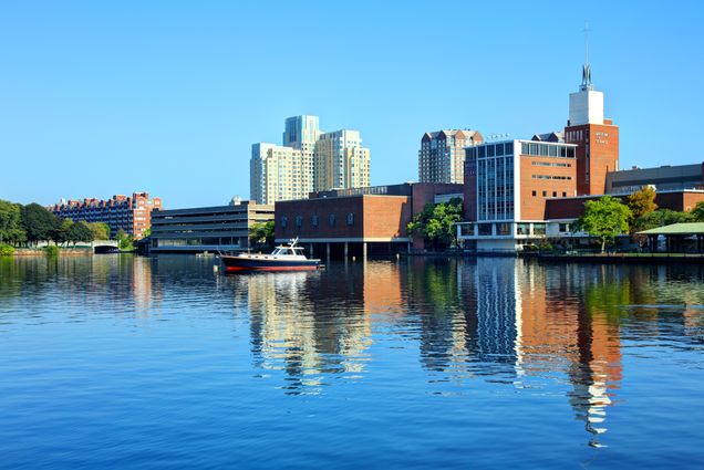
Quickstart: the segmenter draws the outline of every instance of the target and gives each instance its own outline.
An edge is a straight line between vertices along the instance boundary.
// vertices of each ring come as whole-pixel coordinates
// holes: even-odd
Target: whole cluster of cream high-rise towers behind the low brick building
[[[370,152],[358,130],[323,133],[318,116],[286,119],[283,145],[252,145],[250,198],[304,199],[312,191],[370,186]]]

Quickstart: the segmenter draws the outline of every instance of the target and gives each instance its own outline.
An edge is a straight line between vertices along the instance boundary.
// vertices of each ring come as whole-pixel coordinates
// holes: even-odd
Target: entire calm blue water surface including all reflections
[[[704,267],[0,259],[3,468],[701,468]]]

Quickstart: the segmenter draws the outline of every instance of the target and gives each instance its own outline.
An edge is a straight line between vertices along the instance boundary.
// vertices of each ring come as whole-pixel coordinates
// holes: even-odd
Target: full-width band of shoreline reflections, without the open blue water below
[[[0,259],[0,334],[52,314],[153,317],[167,305],[178,320],[204,306],[229,322],[234,342],[244,331],[255,375],[284,394],[383,382],[391,370],[380,364],[403,356],[396,364],[421,372],[427,394],[463,396],[477,384],[557,393],[601,447],[627,348],[702,351],[703,279],[701,267],[514,259],[410,258],[250,275],[214,274],[211,260],[190,257]]]

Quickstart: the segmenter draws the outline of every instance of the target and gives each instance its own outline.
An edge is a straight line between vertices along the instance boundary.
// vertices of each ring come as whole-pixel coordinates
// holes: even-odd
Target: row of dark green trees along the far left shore
[[[110,239],[107,223],[74,222],[54,216],[38,203],[22,206],[0,199],[0,246],[32,247],[39,242],[75,246]]]

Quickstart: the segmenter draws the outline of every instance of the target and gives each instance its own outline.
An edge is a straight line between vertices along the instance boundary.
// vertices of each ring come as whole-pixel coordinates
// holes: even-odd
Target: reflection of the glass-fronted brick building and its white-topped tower
[[[607,430],[622,363],[619,323],[593,305],[602,304],[596,296],[611,295],[604,289],[622,284],[590,274],[593,279],[576,279],[584,276],[583,268],[547,271],[515,259],[458,264],[456,281],[447,276],[441,283],[456,289],[459,307],[445,293],[434,320],[421,322],[432,330],[421,334],[423,364],[448,378],[480,376],[517,386],[562,373],[576,418],[584,421],[590,445],[600,446],[597,436]],[[583,302],[584,282],[594,302]],[[438,311],[443,320],[435,317]]]

